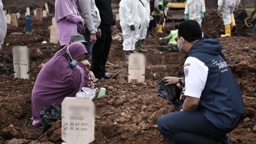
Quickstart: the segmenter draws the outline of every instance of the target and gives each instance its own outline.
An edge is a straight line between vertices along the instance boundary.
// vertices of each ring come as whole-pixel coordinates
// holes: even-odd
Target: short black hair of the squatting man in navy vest
[[[178,36],[182,36],[184,40],[192,42],[201,39],[202,30],[197,21],[184,20],[183,22],[179,23]]]

